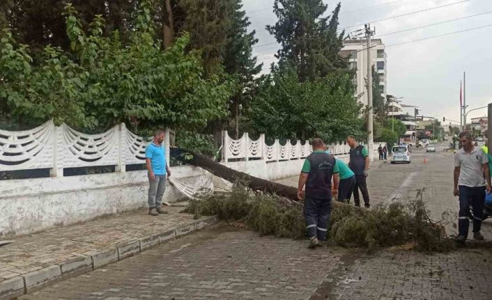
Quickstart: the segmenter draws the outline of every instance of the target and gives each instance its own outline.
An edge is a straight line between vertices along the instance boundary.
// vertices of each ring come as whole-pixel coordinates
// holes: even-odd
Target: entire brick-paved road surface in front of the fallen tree
[[[306,244],[210,228],[19,299],[491,299],[490,250],[367,255]]]

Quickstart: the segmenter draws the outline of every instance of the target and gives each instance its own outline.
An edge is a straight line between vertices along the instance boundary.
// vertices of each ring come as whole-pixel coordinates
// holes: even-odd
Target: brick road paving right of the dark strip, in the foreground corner
[[[362,255],[333,276],[330,299],[492,299],[490,250],[426,255],[384,251]]]

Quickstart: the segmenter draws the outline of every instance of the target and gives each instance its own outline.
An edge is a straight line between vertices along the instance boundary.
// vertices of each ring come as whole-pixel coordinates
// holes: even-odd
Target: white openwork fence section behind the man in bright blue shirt
[[[56,127],[50,120],[25,131],[0,130],[0,171],[49,168],[52,176],[61,177],[63,168],[116,166],[116,171],[125,172],[127,164],[145,163],[150,141],[125,124],[102,134],[84,134],[65,124]]]

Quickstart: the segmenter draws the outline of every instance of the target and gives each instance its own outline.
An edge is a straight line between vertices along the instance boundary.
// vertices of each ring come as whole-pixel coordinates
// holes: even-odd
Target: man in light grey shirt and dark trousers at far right
[[[454,196],[459,196],[458,242],[468,238],[470,204],[473,210],[473,238],[484,239],[480,233],[484,212],[485,190],[491,192],[489,158],[484,150],[475,147],[468,131],[459,134],[463,146],[454,155]]]

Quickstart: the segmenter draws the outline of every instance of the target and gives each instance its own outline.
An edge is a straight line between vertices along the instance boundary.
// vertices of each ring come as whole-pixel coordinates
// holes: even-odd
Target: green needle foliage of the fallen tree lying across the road
[[[254,193],[236,184],[231,194],[203,196],[192,200],[185,212],[217,215],[228,222],[244,223],[263,235],[300,239],[306,236],[302,203],[275,195]],[[455,248],[454,241],[443,237],[440,223],[429,219],[422,199],[409,205],[391,203],[365,210],[333,203],[329,240],[348,248],[378,248],[410,244],[418,251],[443,252]]]

